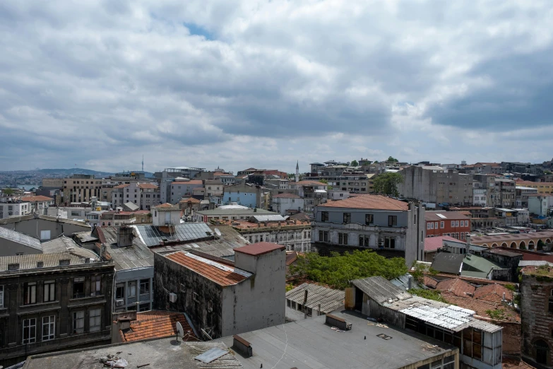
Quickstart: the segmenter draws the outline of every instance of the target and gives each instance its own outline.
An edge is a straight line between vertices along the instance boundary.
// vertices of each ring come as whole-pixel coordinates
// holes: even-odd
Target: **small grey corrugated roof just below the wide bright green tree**
[[[319,286],[313,283],[303,283],[297,286],[286,293],[286,298],[295,303],[303,304],[306,290],[307,303],[305,303],[305,306],[319,310],[319,304],[321,304],[321,312],[325,314],[334,311],[344,304],[344,291],[333,290],[332,288]]]

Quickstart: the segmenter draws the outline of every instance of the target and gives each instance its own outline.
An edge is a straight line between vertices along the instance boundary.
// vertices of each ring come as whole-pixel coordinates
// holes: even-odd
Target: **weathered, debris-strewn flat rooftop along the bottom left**
[[[195,356],[213,347],[229,351],[225,344],[213,341],[184,343],[179,339],[177,343],[174,337],[171,337],[29,356],[23,369],[100,369],[104,368],[100,358],[108,354],[124,358],[129,363],[126,367],[128,369],[144,364],[150,364],[144,367],[146,369],[198,369],[199,364],[202,364],[201,368],[242,368],[232,353],[227,353],[208,364],[194,360]]]

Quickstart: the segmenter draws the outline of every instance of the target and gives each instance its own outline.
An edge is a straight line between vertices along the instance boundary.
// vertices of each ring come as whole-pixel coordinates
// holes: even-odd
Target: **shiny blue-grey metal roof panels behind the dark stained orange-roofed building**
[[[131,225],[140,234],[141,240],[148,247],[160,245],[162,238],[169,239],[170,233],[165,233],[160,230],[160,227],[155,225]],[[211,230],[206,223],[182,223],[174,225],[175,235],[181,242],[201,240],[213,236]]]

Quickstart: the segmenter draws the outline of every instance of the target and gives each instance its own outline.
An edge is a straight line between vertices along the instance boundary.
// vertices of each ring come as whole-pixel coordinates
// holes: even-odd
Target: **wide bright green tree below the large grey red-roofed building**
[[[309,252],[305,256],[300,256],[295,266],[290,266],[292,275],[306,276],[311,281],[338,289],[349,287],[352,279],[369,276],[394,279],[407,273],[407,270],[405,259],[402,257],[386,259],[371,250],[355,250],[352,254],[343,255],[333,252],[331,257]]]

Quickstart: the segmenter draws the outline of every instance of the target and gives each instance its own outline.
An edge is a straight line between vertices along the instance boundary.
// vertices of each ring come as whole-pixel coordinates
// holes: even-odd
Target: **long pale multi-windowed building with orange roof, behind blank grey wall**
[[[311,251],[311,223],[287,221],[280,215],[254,215],[246,220],[226,221],[250,243],[272,242],[284,245],[287,251]]]

